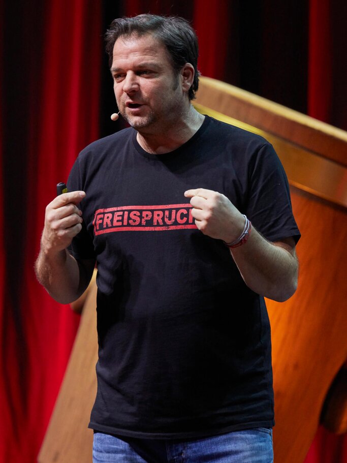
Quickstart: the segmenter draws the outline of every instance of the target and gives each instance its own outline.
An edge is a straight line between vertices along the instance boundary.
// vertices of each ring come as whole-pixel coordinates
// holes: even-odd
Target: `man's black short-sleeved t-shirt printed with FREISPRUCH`
[[[77,259],[98,266],[98,392],[89,427],[185,439],[273,425],[270,325],[228,248],[195,226],[184,191],[226,195],[267,239],[299,231],[288,182],[262,137],[205,117],[151,155],[125,129],[87,146]]]

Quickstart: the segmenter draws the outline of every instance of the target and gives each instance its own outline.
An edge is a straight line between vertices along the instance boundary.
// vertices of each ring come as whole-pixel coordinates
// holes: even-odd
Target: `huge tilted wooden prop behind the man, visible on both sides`
[[[301,463],[320,422],[347,430],[347,132],[232,85],[201,78],[196,108],[263,135],[290,184],[302,238],[299,286],[267,301],[275,390],[274,453]],[[96,285],[89,287],[39,463],[91,463],[87,429],[96,394]]]

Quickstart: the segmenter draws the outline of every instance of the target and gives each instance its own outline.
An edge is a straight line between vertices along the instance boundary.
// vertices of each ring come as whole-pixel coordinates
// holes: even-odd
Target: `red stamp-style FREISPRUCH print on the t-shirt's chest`
[[[161,231],[197,228],[190,204],[119,206],[98,209],[93,220],[94,234],[117,231]]]

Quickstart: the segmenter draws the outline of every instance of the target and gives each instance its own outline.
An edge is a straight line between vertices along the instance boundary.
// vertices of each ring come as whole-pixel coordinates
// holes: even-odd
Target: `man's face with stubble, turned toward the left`
[[[118,38],[111,73],[118,109],[136,130],[157,133],[177,121],[187,97],[162,43],[150,35]]]

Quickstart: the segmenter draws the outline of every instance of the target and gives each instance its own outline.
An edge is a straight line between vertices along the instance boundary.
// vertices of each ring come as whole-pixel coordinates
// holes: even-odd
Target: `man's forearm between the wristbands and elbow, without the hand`
[[[298,280],[294,246],[270,243],[253,228],[247,242],[230,251],[251,290],[279,302],[294,294]]]

